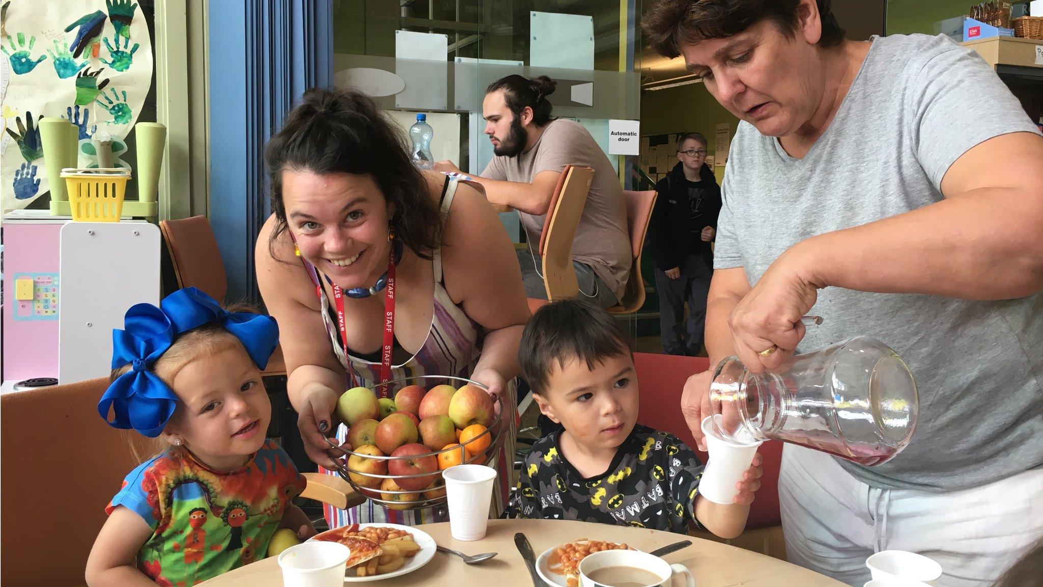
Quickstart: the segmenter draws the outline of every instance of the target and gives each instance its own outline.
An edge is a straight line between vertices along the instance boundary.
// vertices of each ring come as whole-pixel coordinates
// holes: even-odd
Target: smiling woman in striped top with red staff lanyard
[[[315,463],[334,465],[329,440],[346,432],[334,408],[349,386],[468,377],[514,408],[529,309],[514,248],[484,196],[414,168],[396,128],[357,92],[307,92],[265,161],[274,214],[256,246],[258,283],[282,326],[287,389]],[[513,414],[503,421],[498,511],[513,483]],[[367,502],[326,517],[334,527],[445,514]]]

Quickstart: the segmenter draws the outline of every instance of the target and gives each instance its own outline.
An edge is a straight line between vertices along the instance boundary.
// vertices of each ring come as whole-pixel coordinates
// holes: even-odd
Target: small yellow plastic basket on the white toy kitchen
[[[118,222],[123,213],[129,169],[62,169],[69,191],[72,219],[77,222]]]

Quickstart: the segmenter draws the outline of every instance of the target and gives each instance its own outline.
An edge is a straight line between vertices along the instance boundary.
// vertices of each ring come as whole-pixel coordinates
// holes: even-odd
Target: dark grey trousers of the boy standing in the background
[[[659,335],[662,352],[669,355],[696,356],[703,349],[706,328],[706,296],[713,273],[700,255],[687,255],[681,264],[681,277],[670,279],[655,271],[655,289],[659,294]],[[684,321],[684,303],[688,320]]]

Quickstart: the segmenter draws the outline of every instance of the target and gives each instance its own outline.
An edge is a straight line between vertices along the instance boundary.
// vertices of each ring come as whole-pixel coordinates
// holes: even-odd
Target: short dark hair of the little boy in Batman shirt
[[[630,355],[630,337],[605,310],[580,300],[559,300],[536,310],[522,333],[518,361],[532,393],[547,396],[554,362],[595,363]]]

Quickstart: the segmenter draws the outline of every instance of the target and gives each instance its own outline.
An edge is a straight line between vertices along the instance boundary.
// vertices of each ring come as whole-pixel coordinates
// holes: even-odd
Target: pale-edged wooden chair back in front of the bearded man
[[[548,300],[529,300],[535,310],[549,300],[575,298],[580,290],[573,266],[573,240],[586,205],[593,169],[566,165],[554,188],[551,204],[543,219],[537,252],[542,258],[541,272]]]

